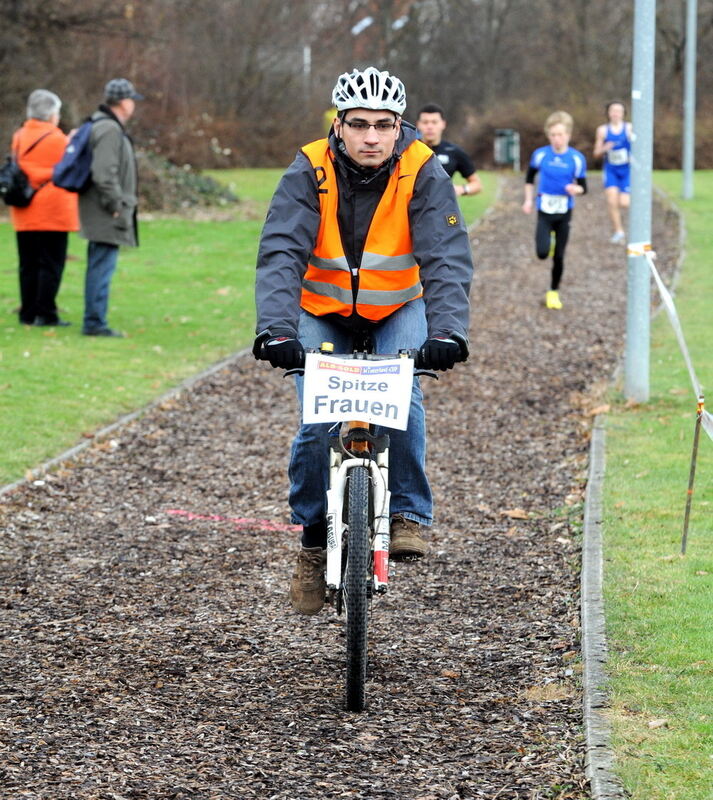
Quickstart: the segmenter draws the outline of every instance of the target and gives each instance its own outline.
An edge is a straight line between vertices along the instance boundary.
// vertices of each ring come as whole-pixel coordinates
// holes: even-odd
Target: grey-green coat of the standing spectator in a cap
[[[136,247],[134,147],[123,126],[104,106],[92,114],[92,120],[92,184],[79,195],[80,235],[92,242]]]

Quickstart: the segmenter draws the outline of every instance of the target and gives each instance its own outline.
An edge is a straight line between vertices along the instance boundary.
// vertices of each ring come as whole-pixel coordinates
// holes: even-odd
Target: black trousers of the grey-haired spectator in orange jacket
[[[35,317],[57,322],[55,298],[67,259],[66,231],[18,231],[20,259],[20,322]]]

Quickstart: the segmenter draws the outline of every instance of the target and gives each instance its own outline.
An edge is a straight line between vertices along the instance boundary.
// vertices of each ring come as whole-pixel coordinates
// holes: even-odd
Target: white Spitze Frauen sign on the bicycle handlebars
[[[412,382],[411,358],[370,361],[307,353],[302,421],[363,420],[405,431]]]

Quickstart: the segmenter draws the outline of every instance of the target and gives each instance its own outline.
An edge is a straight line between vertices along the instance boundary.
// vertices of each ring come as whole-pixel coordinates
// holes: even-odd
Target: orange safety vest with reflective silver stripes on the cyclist
[[[423,287],[413,256],[408,206],[419,170],[433,151],[417,140],[396,163],[364,242],[356,273],[356,297],[337,222],[339,191],[334,155],[327,139],[306,145],[302,152],[317,176],[321,215],[317,242],[302,279],[302,308],[318,317],[348,317],[356,311],[360,317],[376,322],[421,297]]]

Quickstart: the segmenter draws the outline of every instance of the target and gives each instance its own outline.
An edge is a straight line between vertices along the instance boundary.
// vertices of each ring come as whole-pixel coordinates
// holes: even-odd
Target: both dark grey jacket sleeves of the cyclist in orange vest
[[[404,125],[397,156],[415,138],[414,129]],[[317,188],[314,169],[300,151],[275,191],[260,239],[257,334],[297,335],[302,278],[319,231]],[[455,335],[467,343],[473,260],[453,185],[435,156],[416,178],[409,223],[429,336]]]

